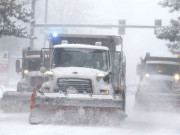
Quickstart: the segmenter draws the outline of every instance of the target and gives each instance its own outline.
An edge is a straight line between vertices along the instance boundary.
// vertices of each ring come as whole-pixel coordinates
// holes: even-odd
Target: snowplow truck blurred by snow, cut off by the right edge
[[[140,83],[135,108],[169,110],[180,107],[180,58],[147,55],[137,66]]]

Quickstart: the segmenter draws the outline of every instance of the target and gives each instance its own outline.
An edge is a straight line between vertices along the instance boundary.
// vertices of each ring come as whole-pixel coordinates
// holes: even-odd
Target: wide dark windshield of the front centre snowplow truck
[[[52,63],[52,68],[87,67],[107,71],[108,53],[105,50],[57,48]]]

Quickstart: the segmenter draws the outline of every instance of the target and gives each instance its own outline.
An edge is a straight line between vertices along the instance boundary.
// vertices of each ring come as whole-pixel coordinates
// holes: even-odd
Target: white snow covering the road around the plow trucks
[[[6,90],[12,90],[5,88]],[[29,113],[0,111],[0,135],[179,135],[180,114],[133,109],[135,89],[127,92],[128,118],[119,127],[30,125]]]

